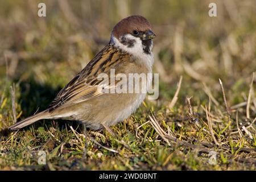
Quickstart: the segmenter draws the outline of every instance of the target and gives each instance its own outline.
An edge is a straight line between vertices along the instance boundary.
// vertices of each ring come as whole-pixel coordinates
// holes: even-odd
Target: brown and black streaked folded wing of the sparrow
[[[110,69],[114,69],[129,60],[129,55],[112,44],[104,47],[82,71],[75,76],[49,105],[49,111],[60,109],[90,100],[104,94],[98,86],[100,73],[106,73],[110,79]]]

